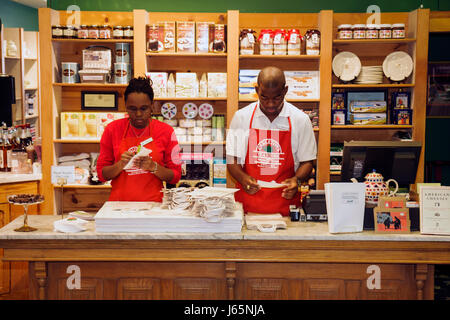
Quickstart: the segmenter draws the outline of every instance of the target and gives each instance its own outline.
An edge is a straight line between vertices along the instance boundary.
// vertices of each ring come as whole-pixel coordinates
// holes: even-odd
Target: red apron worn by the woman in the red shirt
[[[139,144],[152,136],[152,124],[150,121],[150,124],[139,137],[127,137],[128,128],[130,127],[130,122],[128,122],[122,141],[115,154],[116,162],[120,160],[122,153],[125,151],[136,152]],[[146,134],[147,128],[148,135]],[[163,156],[155,141],[147,143],[145,147],[152,150],[152,153],[149,155],[152,160],[161,164]],[[123,170],[118,177],[111,181],[111,186],[109,201],[162,201],[162,181],[146,170],[139,168]]]

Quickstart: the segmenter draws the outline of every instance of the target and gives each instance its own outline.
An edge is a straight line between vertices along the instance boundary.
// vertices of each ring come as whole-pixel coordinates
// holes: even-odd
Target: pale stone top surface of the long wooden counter
[[[66,216],[65,216],[66,217]],[[53,230],[53,222],[61,219],[56,215],[29,215],[28,225],[38,228],[34,232],[15,232],[23,225],[23,216],[0,229],[0,240],[321,240],[321,241],[405,241],[448,242],[450,236],[423,235],[420,232],[404,234],[379,234],[374,231],[330,234],[326,222],[287,221],[286,230],[263,233],[247,230],[241,233],[99,233],[95,222],[86,224],[87,230],[79,233],[61,233]]]

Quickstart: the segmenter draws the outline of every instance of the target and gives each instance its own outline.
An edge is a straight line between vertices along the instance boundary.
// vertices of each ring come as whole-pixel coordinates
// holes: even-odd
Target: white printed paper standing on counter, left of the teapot
[[[328,232],[361,232],[365,208],[364,183],[326,183]]]

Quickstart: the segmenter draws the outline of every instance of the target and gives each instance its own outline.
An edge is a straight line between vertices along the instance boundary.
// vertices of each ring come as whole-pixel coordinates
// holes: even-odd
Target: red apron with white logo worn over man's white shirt
[[[244,171],[256,180],[283,182],[295,175],[294,156],[291,144],[291,119],[289,131],[271,131],[252,129],[253,110],[250,119],[250,133],[248,138],[247,155],[245,157]],[[297,192],[291,200],[281,196],[284,188],[261,188],[254,195],[246,193],[242,186],[235,194],[236,201],[242,202],[245,212],[254,213],[281,213],[289,215],[289,205],[300,206],[300,194]]]

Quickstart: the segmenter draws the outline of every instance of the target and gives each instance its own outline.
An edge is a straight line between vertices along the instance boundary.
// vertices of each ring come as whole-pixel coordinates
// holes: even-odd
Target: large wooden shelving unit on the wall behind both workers
[[[77,152],[98,152],[99,140],[69,140],[61,139],[59,114],[63,111],[81,111],[80,92],[82,90],[99,90],[106,88],[119,93],[119,112],[125,111],[123,93],[126,85],[116,84],[62,84],[59,83],[59,68],[62,61],[81,63],[81,50],[92,44],[104,44],[114,47],[117,42],[130,42],[134,76],[144,76],[149,71],[163,72],[226,72],[227,97],[223,98],[155,98],[155,110],[162,103],[174,102],[181,107],[184,102],[201,101],[214,105],[215,113],[224,115],[229,127],[231,119],[238,108],[254,99],[239,99],[238,83],[239,69],[262,69],[275,65],[283,70],[318,70],[320,72],[319,99],[288,99],[289,102],[302,109],[314,109],[319,113],[319,128],[315,129],[318,142],[318,158],[316,161],[316,186],[323,189],[330,181],[330,145],[333,142],[351,139],[390,139],[397,130],[412,131],[413,139],[424,143],[425,105],[426,105],[426,69],[428,50],[428,20],[429,10],[418,9],[410,13],[383,13],[383,23],[404,22],[408,31],[406,39],[400,40],[338,40],[337,25],[342,23],[364,23],[368,18],[365,13],[333,13],[323,10],[319,13],[240,13],[229,10],[222,13],[185,13],[185,12],[82,12],[83,24],[133,25],[134,40],[67,40],[52,39],[51,26],[65,24],[68,15],[65,11],[55,11],[48,8],[39,9],[40,56],[42,87],[43,127],[43,181],[41,192],[48,201],[44,202],[44,212],[55,212],[59,197],[55,197],[54,186],[51,184],[51,165],[55,164],[57,156]],[[146,50],[147,24],[158,21],[211,21],[227,25],[226,53],[153,53]],[[263,28],[298,28],[301,34],[308,29],[319,29],[321,32],[321,50],[317,56],[263,56],[239,55],[239,33],[242,28],[252,28],[259,32]],[[376,50],[374,50],[376,48]],[[377,63],[381,65],[384,57],[395,50],[407,51],[414,60],[414,73],[405,83],[385,83],[378,85],[343,84],[332,73],[332,59],[337,52],[355,51],[360,56],[363,65]],[[56,72],[55,72],[56,70]],[[332,126],[331,125],[331,94],[333,90],[398,90],[412,92],[414,109],[413,124],[409,126]],[[158,112],[156,112],[158,113]],[[208,148],[205,143],[182,143],[182,149]],[[224,142],[213,142],[211,149],[224,152]],[[423,148],[424,149],[424,148]],[[419,164],[417,181],[423,181],[423,154]],[[228,183],[233,185],[231,178]],[[107,199],[109,188],[102,186],[70,186],[65,201],[75,197],[81,202],[96,208],[98,203]],[[102,190],[99,192],[99,190]],[[52,201],[54,200],[54,201]],[[98,203],[94,204],[94,201]],[[66,204],[66,202],[65,202]],[[70,206],[64,205],[64,208]],[[72,206],[73,207],[73,206]],[[72,208],[70,207],[70,208]]]

